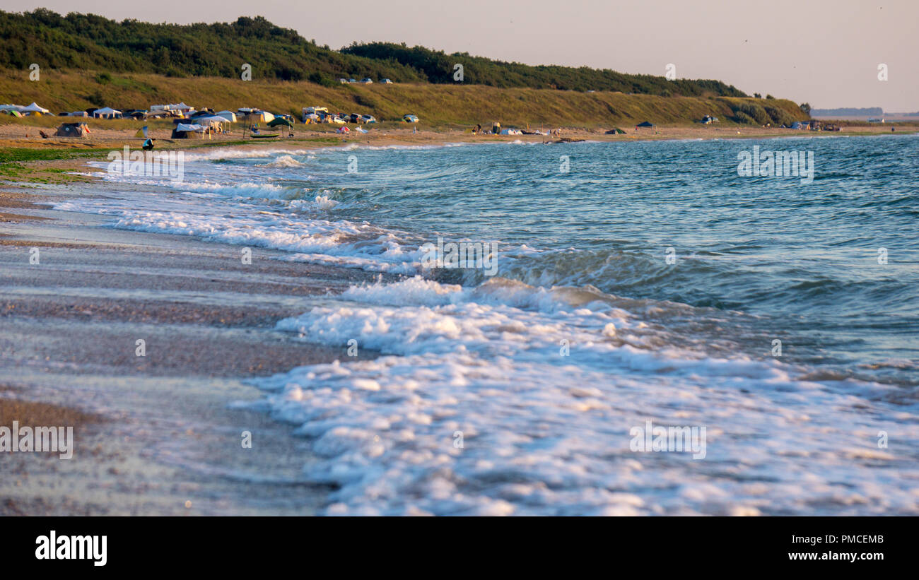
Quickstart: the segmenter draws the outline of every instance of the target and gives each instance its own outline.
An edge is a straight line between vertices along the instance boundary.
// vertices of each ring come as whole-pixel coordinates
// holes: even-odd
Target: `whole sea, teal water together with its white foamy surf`
[[[739,175],[754,146],[811,153],[812,179]],[[917,149],[210,150],[58,208],[398,274],[278,323],[357,356],[255,381],[327,513],[915,514]],[[427,267],[438,238],[494,268]],[[704,428],[704,457],[635,451],[648,421]]]

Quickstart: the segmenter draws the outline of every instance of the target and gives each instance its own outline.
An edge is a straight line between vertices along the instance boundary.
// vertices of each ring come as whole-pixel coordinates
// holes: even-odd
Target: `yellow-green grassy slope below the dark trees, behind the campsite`
[[[0,73],[0,101],[19,105],[36,101],[54,114],[89,106],[145,109],[185,101],[215,110],[254,106],[299,117],[301,107],[319,105],[332,111],[370,114],[380,120],[398,120],[414,113],[421,117],[424,127],[430,128],[485,126],[493,121],[518,127],[627,128],[645,120],[689,125],[706,114],[730,124],[731,105],[741,102],[768,104],[796,119],[806,118],[795,103],[783,99],[664,97],[461,84],[326,87],[308,82],[67,71],[42,71],[40,81],[31,82],[28,71],[6,70]]]

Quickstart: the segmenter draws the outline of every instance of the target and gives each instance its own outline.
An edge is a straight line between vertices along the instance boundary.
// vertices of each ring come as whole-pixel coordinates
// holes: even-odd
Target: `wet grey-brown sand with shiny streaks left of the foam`
[[[341,358],[274,324],[374,276],[260,249],[246,265],[239,247],[41,205],[106,186],[0,188],[16,208],[0,230],[0,425],[73,425],[75,440],[70,460],[0,453],[0,515],[314,513],[329,490],[302,480],[294,426],[232,403],[261,397],[247,377]]]

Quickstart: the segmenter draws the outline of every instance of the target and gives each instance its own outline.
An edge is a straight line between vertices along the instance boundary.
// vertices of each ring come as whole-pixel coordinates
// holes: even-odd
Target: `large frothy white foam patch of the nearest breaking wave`
[[[483,292],[413,278],[354,287],[342,306],[278,323],[302,340],[357,340],[384,355],[255,381],[272,414],[309,438],[318,459],[304,466],[306,477],[340,486],[328,513],[915,508],[910,485],[888,481],[919,473],[908,453],[871,452],[863,441],[878,418],[857,408],[879,385],[842,392],[795,380],[777,362],[652,349],[642,345],[641,321],[602,301],[585,307],[558,289],[491,285]],[[630,452],[630,428],[649,419],[706,426],[708,461]],[[902,427],[906,438],[919,435]],[[853,471],[854,457],[889,469]]]

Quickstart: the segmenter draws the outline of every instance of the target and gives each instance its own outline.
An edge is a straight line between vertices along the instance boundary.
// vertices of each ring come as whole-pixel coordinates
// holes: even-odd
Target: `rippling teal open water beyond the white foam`
[[[812,151],[813,181],[738,176],[737,154],[754,145]],[[916,385],[917,147],[913,135],[498,144],[249,163],[291,195],[338,202],[335,218],[421,243],[497,241],[506,278],[743,311],[756,317],[752,355],[778,339],[792,360]]]

